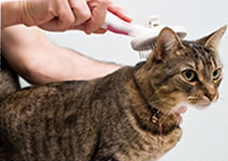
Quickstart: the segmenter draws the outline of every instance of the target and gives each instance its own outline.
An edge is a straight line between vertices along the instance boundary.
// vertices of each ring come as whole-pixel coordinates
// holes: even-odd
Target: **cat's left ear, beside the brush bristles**
[[[165,27],[157,38],[154,56],[157,59],[163,59],[166,55],[178,49],[181,44],[177,34],[170,28]]]

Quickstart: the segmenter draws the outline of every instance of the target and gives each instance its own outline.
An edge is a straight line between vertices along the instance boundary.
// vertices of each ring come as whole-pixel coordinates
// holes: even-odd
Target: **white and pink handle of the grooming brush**
[[[102,28],[117,34],[128,35],[130,37],[136,37],[148,31],[147,28],[128,23],[109,11],[106,13],[105,22],[102,25]]]

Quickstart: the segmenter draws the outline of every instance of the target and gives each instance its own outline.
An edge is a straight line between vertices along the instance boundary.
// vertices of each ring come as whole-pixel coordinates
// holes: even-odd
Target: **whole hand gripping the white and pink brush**
[[[21,23],[49,31],[80,29],[87,34],[99,32],[107,10],[131,21],[111,0],[27,0],[18,1],[18,5]]]

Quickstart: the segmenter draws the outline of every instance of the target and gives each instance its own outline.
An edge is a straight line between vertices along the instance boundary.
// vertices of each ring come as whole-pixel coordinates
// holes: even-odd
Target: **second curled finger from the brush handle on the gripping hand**
[[[69,0],[69,3],[76,19],[74,25],[80,25],[90,19],[91,11],[85,0]]]

